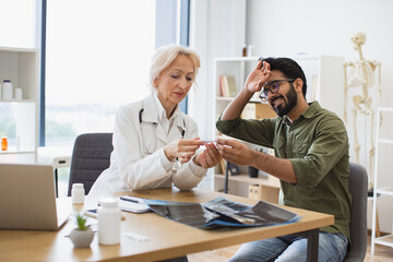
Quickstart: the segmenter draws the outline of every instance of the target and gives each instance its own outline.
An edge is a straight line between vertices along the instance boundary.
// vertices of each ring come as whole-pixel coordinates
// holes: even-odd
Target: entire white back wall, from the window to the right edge
[[[196,119],[201,138],[211,139],[213,108],[213,59],[240,56],[245,43],[254,45],[254,56],[331,55],[358,60],[350,37],[367,34],[364,56],[382,63],[382,99],[393,107],[393,1],[390,0],[193,0],[191,47],[201,55],[199,90],[190,96],[190,115]],[[242,27],[245,26],[245,27]],[[332,75],[334,78],[334,75]],[[343,97],[337,97],[343,103]],[[349,104],[348,104],[349,105]],[[348,114],[348,117],[350,115]],[[348,121],[348,126],[352,122]],[[364,126],[362,126],[364,127]],[[390,130],[392,129],[389,127]],[[367,139],[359,130],[359,139]],[[353,130],[348,127],[349,139]],[[389,155],[389,152],[384,152]],[[352,159],[354,153],[350,152]],[[366,155],[366,153],[362,153]],[[362,163],[365,166],[367,163]],[[388,168],[383,168],[388,169]],[[390,168],[392,169],[392,167]],[[392,176],[393,177],[393,176]],[[393,178],[391,178],[393,179]],[[392,181],[390,181],[392,182]],[[379,203],[382,231],[392,230],[391,200]],[[371,207],[371,205],[370,205]],[[369,209],[371,210],[371,209]],[[369,212],[369,228],[371,225]]]

